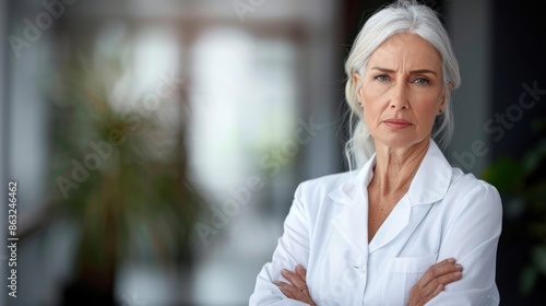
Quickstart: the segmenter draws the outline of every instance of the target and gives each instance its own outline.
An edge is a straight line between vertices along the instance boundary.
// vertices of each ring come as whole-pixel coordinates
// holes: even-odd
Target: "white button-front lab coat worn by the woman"
[[[368,244],[368,193],[375,155],[363,168],[300,184],[271,262],[250,305],[306,305],[274,281],[307,269],[317,305],[407,305],[410,290],[434,263],[455,258],[462,280],[427,305],[498,305],[496,254],[502,207],[491,185],[452,168],[434,141],[406,195]]]

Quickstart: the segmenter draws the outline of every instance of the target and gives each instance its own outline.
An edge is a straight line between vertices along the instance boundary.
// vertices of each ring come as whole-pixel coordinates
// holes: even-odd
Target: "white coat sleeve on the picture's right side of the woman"
[[[448,284],[427,305],[499,305],[495,282],[502,223],[499,193],[495,187],[479,181],[458,205],[443,234],[438,260],[455,258],[463,266],[463,278]]]

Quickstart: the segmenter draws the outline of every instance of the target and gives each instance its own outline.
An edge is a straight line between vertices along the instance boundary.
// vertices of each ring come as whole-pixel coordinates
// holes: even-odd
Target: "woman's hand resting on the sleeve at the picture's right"
[[[453,258],[432,264],[412,287],[408,306],[423,306],[443,291],[447,284],[461,280],[463,267]]]

